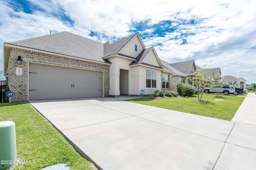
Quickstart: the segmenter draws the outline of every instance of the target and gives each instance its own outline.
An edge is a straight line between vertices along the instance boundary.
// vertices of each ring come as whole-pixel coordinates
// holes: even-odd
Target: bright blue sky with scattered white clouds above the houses
[[[105,43],[138,32],[168,63],[194,60],[256,83],[255,0],[0,0],[4,42],[68,31]]]

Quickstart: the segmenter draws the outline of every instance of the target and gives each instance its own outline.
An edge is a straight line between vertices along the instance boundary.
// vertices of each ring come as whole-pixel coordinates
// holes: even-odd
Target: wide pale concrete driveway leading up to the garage
[[[124,102],[30,103],[104,170],[242,170],[256,167],[256,125]]]

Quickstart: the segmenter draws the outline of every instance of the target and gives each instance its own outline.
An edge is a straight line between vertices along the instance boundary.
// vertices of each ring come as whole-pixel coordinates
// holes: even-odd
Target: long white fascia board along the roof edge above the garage
[[[50,54],[50,55],[56,55],[56,56],[60,56],[60,57],[68,57],[70,59],[77,59],[77,60],[82,60],[82,61],[89,61],[89,62],[92,62],[92,63],[100,63],[100,64],[106,64],[106,65],[111,65],[110,63],[104,63],[104,62],[100,62],[100,61],[94,61],[94,60],[89,60],[89,59],[83,59],[83,58],[80,58],[80,57],[73,57],[73,56],[70,56],[70,55],[63,55],[63,54],[59,54],[59,53],[52,53],[52,52],[49,52],[49,51],[43,51],[43,50],[38,50],[38,49],[32,49],[32,48],[28,48],[28,47],[22,47],[22,46],[19,46],[19,45],[12,45],[12,44],[6,44],[4,43],[4,46],[7,46],[7,47],[13,47],[13,48],[18,48],[18,49],[24,49],[24,50],[29,50],[29,51],[34,51],[34,52],[38,52],[38,53],[45,53],[45,54]]]

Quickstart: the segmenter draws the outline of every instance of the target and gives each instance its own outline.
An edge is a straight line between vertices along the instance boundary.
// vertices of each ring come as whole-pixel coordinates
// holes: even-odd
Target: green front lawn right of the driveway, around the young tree
[[[191,99],[198,99],[197,95],[179,98],[165,98],[161,100],[153,100],[149,98],[137,98],[126,100],[138,104],[145,104],[149,106],[161,107],[164,109],[182,111],[192,113],[195,115],[202,115],[207,117],[214,117],[230,121],[242,102],[244,97],[239,96],[223,96],[224,98],[214,98],[214,94],[203,95],[202,100],[208,100],[209,103],[193,102]],[[224,101],[217,101],[215,99],[223,99]]]

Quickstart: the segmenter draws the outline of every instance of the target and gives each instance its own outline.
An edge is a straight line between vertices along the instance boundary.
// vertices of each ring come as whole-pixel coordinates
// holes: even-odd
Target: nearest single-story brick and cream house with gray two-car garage
[[[115,43],[66,31],[4,43],[12,101],[148,95],[186,77],[174,70],[138,33]]]

